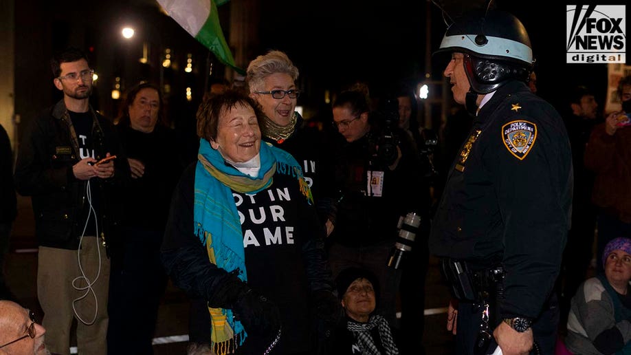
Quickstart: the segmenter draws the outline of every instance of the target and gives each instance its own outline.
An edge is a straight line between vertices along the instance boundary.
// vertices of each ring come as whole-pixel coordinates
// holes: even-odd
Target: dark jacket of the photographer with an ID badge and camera
[[[335,183],[329,188],[337,200],[335,229],[330,236],[335,243],[355,247],[394,241],[399,217],[416,212],[425,219],[428,188],[417,156],[409,141],[401,140],[401,159],[390,170],[377,154],[381,136],[373,126],[364,137],[354,142],[340,140],[335,147]],[[373,180],[381,179],[380,193],[368,191],[368,173]]]

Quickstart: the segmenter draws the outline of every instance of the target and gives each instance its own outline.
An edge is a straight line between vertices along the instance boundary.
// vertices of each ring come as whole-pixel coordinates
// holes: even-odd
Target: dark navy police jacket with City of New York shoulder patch
[[[524,83],[478,111],[432,220],[430,251],[505,269],[503,318],[536,319],[553,290],[570,224],[573,170],[560,115]]]

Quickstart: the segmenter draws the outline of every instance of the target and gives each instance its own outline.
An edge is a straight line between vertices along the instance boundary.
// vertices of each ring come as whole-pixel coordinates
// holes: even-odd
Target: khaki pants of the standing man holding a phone
[[[107,354],[108,290],[109,259],[100,239],[84,237],[80,250],[39,247],[37,292],[50,352],[70,353],[70,328],[76,318],[78,354]]]

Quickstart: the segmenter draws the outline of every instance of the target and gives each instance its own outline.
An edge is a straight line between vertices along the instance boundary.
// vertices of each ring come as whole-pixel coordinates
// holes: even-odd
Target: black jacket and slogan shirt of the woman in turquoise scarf
[[[175,286],[197,299],[192,305],[196,312],[191,313],[191,322],[195,324],[191,334],[203,330],[204,336],[191,338],[206,343],[210,342],[210,321],[208,311],[203,312],[203,307],[208,304],[210,307],[233,308],[240,296],[240,288],[231,281],[234,274],[210,263],[207,247],[195,235],[196,165],[193,163],[184,170],[173,194],[162,243],[162,261]],[[289,199],[270,200],[276,193],[274,191],[279,190],[289,191]],[[243,195],[232,193],[235,197]],[[278,345],[281,354],[283,351],[288,354],[305,352],[311,348],[308,308],[313,305],[309,299],[319,290],[331,290],[333,283],[324,254],[324,231],[318,224],[315,208],[307,200],[296,198],[300,194],[294,177],[276,171],[271,186],[250,195],[251,198],[239,197],[242,200],[237,204],[243,215],[244,244],[247,243],[247,248],[244,247],[247,286],[278,305],[283,323],[283,337]],[[265,217],[264,211],[270,211],[269,208],[283,211],[282,217]],[[251,216],[261,219],[252,222]],[[283,241],[285,227],[290,228],[291,241]],[[264,232],[265,229],[276,230],[278,240],[282,242],[268,242],[269,232]],[[252,244],[256,240],[260,244]],[[250,338],[250,341],[254,339]]]

